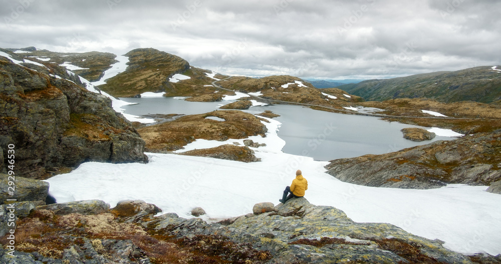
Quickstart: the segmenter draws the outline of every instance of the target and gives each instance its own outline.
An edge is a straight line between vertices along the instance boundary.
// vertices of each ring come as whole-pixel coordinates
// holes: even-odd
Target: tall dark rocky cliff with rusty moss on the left
[[[144,140],[109,98],[57,64],[32,61],[0,56],[0,146],[5,160],[5,148],[15,145],[16,175],[47,178],[84,161],[147,161]]]

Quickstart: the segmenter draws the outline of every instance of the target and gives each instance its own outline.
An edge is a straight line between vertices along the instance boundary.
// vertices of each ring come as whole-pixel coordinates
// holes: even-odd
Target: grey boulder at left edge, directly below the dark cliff
[[[9,187],[9,175],[0,173],[0,189],[7,190]],[[16,201],[45,201],[49,193],[49,182],[24,178],[16,176],[14,195],[9,195],[7,191],[0,192],[0,204],[3,204],[7,199],[16,199]],[[44,203],[45,204],[45,203]]]

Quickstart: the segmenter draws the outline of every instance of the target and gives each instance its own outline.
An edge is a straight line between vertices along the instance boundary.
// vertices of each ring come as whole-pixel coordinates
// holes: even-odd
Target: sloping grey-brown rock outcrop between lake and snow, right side
[[[336,159],[326,169],[342,181],[366,186],[416,189],[448,183],[488,186],[501,179],[499,152],[501,130],[496,130],[387,154]]]

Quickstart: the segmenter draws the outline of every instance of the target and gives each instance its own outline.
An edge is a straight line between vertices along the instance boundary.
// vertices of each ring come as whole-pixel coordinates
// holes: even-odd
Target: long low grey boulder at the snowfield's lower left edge
[[[110,204],[102,200],[81,200],[37,206],[37,210],[50,210],[59,215],[70,213],[93,215],[109,212]]]

